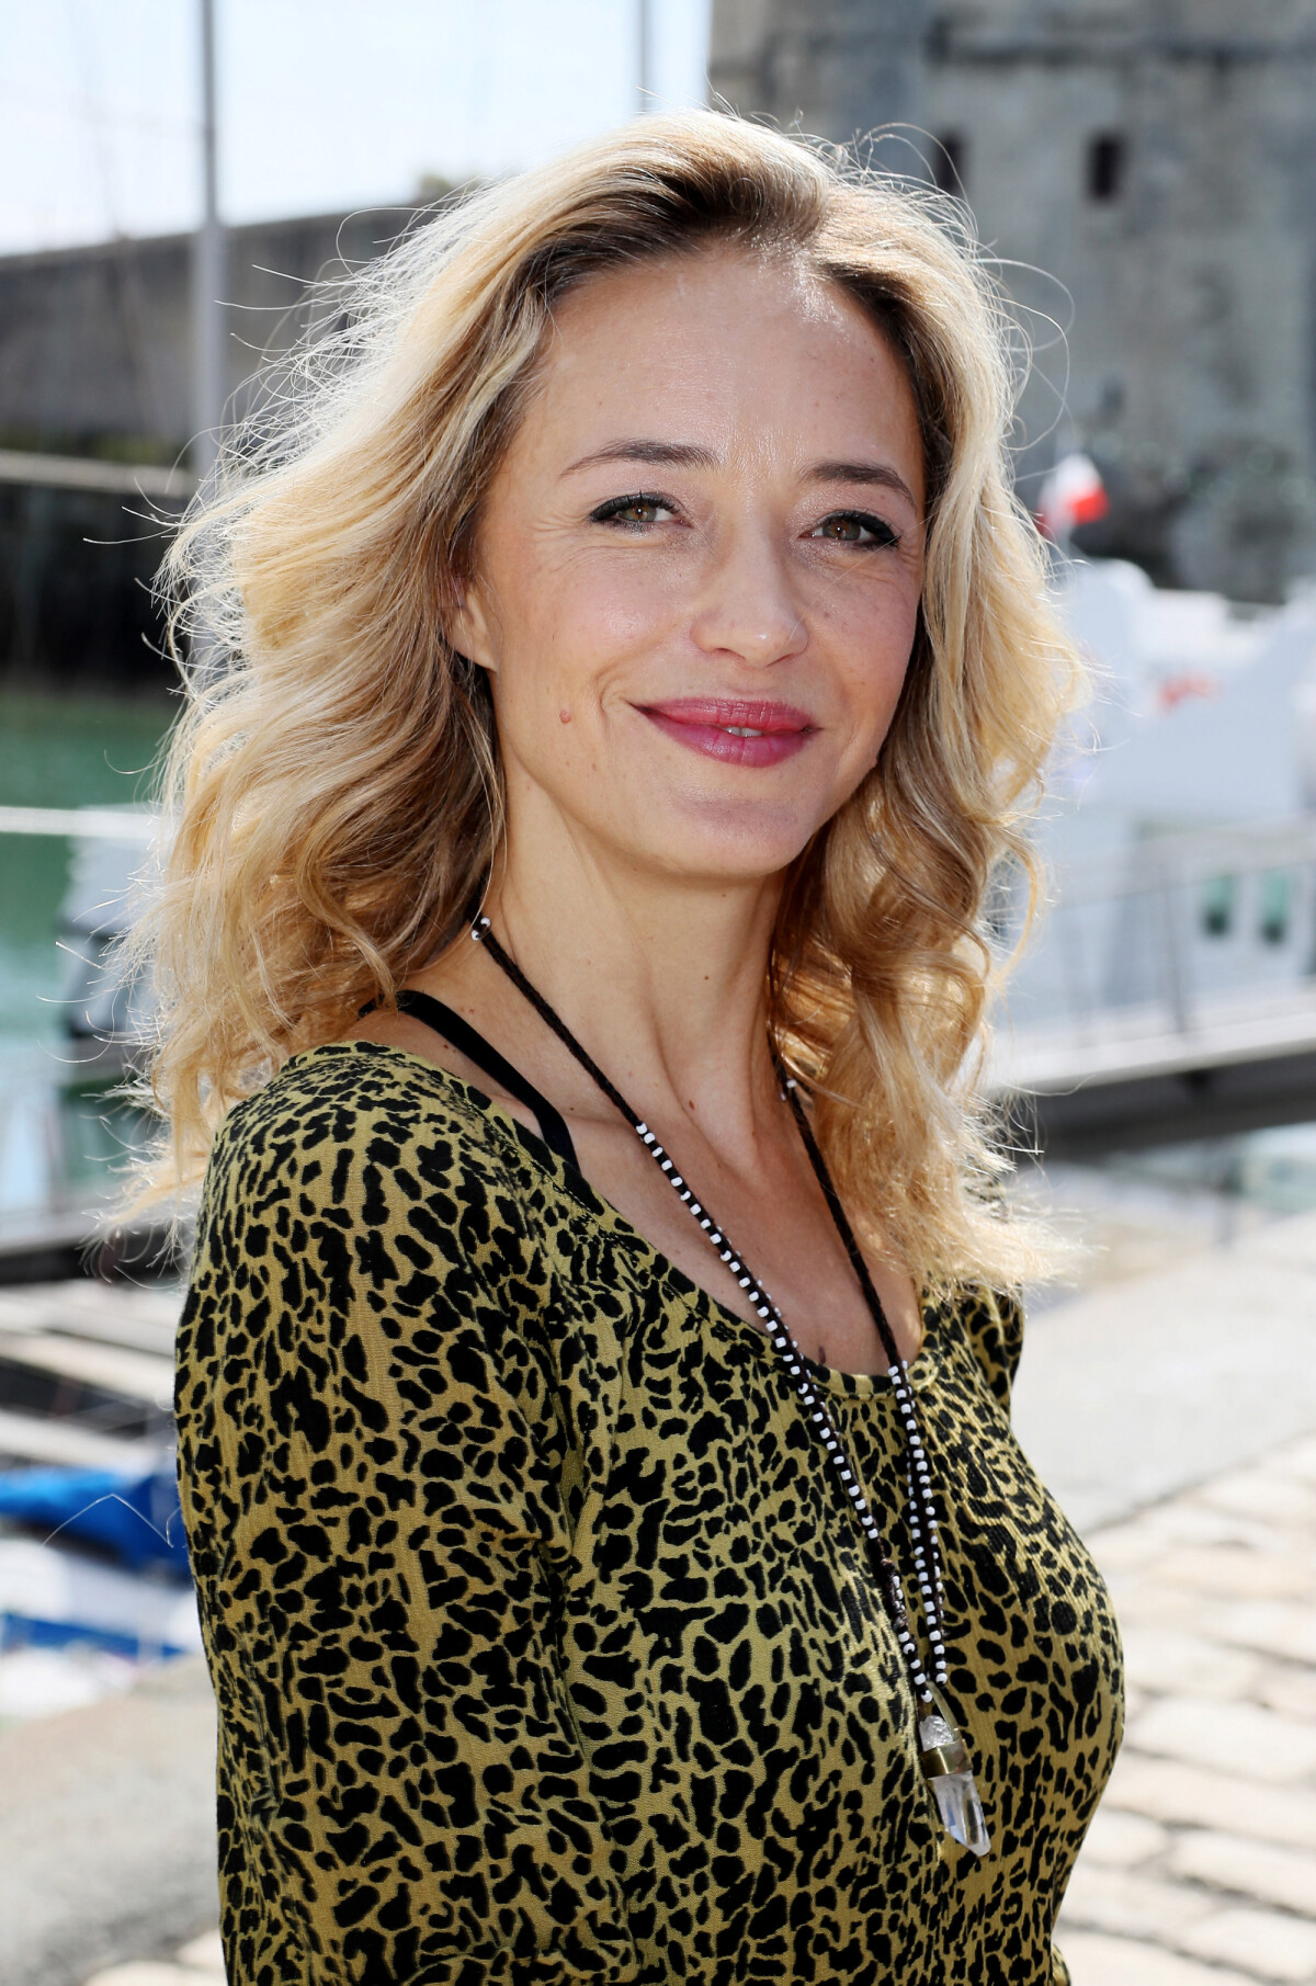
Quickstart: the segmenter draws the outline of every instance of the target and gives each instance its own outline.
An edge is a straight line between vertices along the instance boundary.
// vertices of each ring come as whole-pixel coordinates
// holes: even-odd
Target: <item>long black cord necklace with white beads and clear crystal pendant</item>
[[[836,1231],[842,1237],[850,1263],[859,1279],[859,1289],[863,1291],[863,1301],[867,1303],[869,1315],[877,1327],[881,1339],[881,1348],[887,1354],[887,1378],[891,1380],[891,1390],[895,1394],[897,1412],[901,1414],[905,1426],[905,1484],[909,1493],[909,1535],[913,1541],[913,1563],[919,1581],[919,1593],[923,1599],[923,1617],[927,1621],[927,1640],[931,1648],[931,1676],[919,1654],[919,1642],[909,1625],[909,1613],[905,1609],[905,1591],[901,1577],[895,1569],[887,1543],[877,1527],[877,1519],[869,1509],[863,1495],[859,1480],[846,1456],[840,1432],[828,1410],[826,1400],[816,1392],[814,1382],[806,1370],[808,1360],[804,1358],[800,1347],[796,1345],[782,1313],[776,1303],[768,1297],[758,1277],[746,1267],[744,1257],[730,1245],[726,1231],[713,1219],[709,1209],[701,1206],[691,1188],[685,1184],[677,1172],[673,1160],[657,1142],[655,1134],[649,1130],[645,1120],[637,1110],[629,1106],[621,1090],[603,1074],[593,1057],[576,1035],[570,1031],[566,1021],[548,1005],[544,995],[526,979],[520,965],[508,957],[498,939],[492,933],[490,922],[478,916],[470,925],[470,935],[478,945],[484,945],[488,955],[496,965],[502,967],[512,985],[522,993],[546,1027],[558,1037],[558,1041],[576,1057],[580,1066],[588,1076],[599,1086],[603,1096],[613,1104],[615,1110],[627,1120],[635,1136],[641,1140],[649,1156],[655,1160],[659,1170],[665,1174],[667,1184],[673,1188],[677,1198],[691,1215],[699,1221],[701,1229],[707,1233],[713,1247],[719,1251],[723,1263],[730,1269],[740,1289],[746,1293],[754,1313],[766,1327],[766,1339],[778,1354],[782,1370],[786,1372],[792,1392],[796,1394],[802,1410],[806,1412],[814,1432],[818,1434],[824,1452],[836,1468],[838,1482],[846,1491],[850,1507],[854,1509],[863,1537],[867,1539],[869,1551],[877,1567],[879,1589],[887,1619],[899,1640],[905,1666],[909,1670],[909,1680],[927,1706],[927,1712],[919,1718],[919,1744],[923,1772],[929,1779],[933,1797],[937,1801],[937,1811],[947,1827],[947,1833],[955,1837],[963,1847],[973,1849],[975,1855],[987,1855],[990,1847],[990,1837],[987,1833],[987,1821],[983,1817],[983,1803],[973,1779],[973,1768],[969,1762],[967,1746],[955,1726],[955,1718],[941,1694],[947,1680],[947,1650],[945,1650],[945,1623],[943,1623],[943,1585],[941,1585],[941,1549],[937,1543],[937,1507],[933,1501],[931,1472],[927,1466],[927,1454],[923,1450],[923,1438],[919,1432],[919,1416],[913,1398],[913,1386],[909,1384],[909,1366],[899,1356],[895,1339],[891,1337],[891,1325],[881,1307],[877,1289],[863,1259],[863,1251],[855,1241],[850,1217],[842,1207],[836,1186],[832,1184],[832,1174],[814,1138],[814,1128],[800,1102],[794,1078],[786,1076],[780,1063],[776,1064],[778,1082],[782,1084],[782,1094],[790,1102],[792,1116],[804,1140],[804,1150],[808,1152],[810,1164],[822,1196],[828,1204]]]

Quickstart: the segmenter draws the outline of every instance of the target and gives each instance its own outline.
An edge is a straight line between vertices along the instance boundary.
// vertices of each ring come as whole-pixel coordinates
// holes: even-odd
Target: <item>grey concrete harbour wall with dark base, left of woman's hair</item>
[[[234,228],[226,355],[234,405],[266,350],[314,310],[308,284],[393,240],[415,209]],[[193,238],[0,258],[0,449],[187,459]],[[167,683],[151,578],[165,550],[141,500],[0,483],[0,679]]]

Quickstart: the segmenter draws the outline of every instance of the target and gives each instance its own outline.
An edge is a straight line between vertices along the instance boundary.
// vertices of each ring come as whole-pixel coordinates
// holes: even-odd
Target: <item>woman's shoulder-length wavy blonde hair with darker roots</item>
[[[445,638],[480,498],[558,300],[717,242],[790,252],[869,312],[927,455],[903,699],[786,878],[770,1025],[859,1225],[929,1289],[1034,1267],[977,1100],[983,912],[1002,858],[1032,876],[1020,826],[1078,665],[1010,489],[1010,320],[949,203],[711,111],[466,197],[349,276],[185,518],[163,574],[191,653],[171,840],[133,939],[159,1015],[157,1190],[457,935],[502,832],[488,689]]]

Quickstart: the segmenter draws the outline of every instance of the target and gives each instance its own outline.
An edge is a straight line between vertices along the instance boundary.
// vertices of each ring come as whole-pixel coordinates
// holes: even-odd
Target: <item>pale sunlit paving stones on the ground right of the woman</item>
[[[1060,1918],[1074,1986],[1316,1986],[1316,1436],[1090,1545],[1129,1722]]]

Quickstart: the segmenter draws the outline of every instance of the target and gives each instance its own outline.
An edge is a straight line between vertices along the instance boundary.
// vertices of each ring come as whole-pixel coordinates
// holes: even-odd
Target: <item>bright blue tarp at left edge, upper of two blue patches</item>
[[[50,1537],[103,1545],[127,1565],[167,1567],[191,1579],[173,1468],[153,1476],[113,1470],[10,1470],[0,1476],[0,1519]]]

